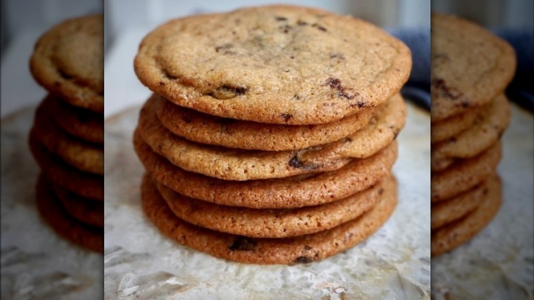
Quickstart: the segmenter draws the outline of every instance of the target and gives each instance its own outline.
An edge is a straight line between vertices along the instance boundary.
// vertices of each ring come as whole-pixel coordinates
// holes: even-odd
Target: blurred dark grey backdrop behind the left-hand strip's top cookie
[[[1,117],[36,105],[46,92],[29,73],[36,40],[66,18],[102,13],[102,0],[1,1]]]

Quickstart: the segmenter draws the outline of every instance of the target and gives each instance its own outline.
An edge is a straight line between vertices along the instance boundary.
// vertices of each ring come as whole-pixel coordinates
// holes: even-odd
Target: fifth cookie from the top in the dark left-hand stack
[[[54,182],[50,184],[68,214],[87,225],[104,227],[103,201],[81,197]]]

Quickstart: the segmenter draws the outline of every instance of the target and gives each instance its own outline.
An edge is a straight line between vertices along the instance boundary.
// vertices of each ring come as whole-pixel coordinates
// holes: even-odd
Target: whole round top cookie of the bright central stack
[[[277,124],[339,120],[392,97],[411,54],[370,23],[273,5],[180,18],[142,41],[140,81],[207,114]]]

